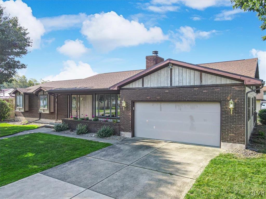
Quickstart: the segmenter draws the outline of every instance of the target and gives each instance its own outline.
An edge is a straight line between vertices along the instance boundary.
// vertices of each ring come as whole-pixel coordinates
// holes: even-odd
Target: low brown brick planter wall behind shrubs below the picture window
[[[114,128],[114,135],[120,135],[119,123],[114,124],[112,122],[73,119],[62,119],[62,122],[67,123],[72,130],[75,130],[78,124],[85,124],[88,127],[89,133],[96,133],[103,126],[110,126]]]

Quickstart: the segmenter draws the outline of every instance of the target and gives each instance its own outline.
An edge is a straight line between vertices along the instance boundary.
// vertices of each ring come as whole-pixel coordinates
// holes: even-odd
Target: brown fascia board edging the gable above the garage
[[[252,77],[248,77],[248,76],[244,76],[244,75],[238,75],[238,74],[235,74],[235,73],[230,73],[230,72],[221,71],[221,70],[218,70],[218,69],[208,68],[208,67],[205,67],[205,66],[199,66],[199,65],[196,65],[196,64],[190,64],[190,63],[186,63],[186,62],[181,62],[181,61],[178,61],[178,60],[167,59],[167,60],[165,60],[165,61],[163,61],[163,62],[161,62],[159,64],[156,64],[155,66],[152,66],[152,67],[150,67],[150,68],[148,68],[148,69],[146,69],[146,70],[144,70],[142,72],[139,72],[138,74],[136,74],[136,75],[134,75],[132,77],[129,77],[126,80],[123,80],[123,81],[111,86],[110,89],[111,90],[116,90],[116,89],[118,89],[119,86],[121,86],[123,84],[126,84],[127,82],[132,81],[132,80],[134,80],[134,79],[136,79],[138,77],[144,76],[147,73],[151,73],[151,71],[156,70],[157,68],[160,68],[161,66],[163,66],[164,64],[167,64],[167,63],[177,64],[177,65],[180,65],[180,66],[193,68],[193,69],[196,69],[196,70],[206,71],[206,72],[215,73],[215,74],[222,75],[222,76],[231,77],[231,78],[234,78],[234,79],[243,80],[245,85],[261,85],[262,84],[262,80],[261,79],[252,78]]]

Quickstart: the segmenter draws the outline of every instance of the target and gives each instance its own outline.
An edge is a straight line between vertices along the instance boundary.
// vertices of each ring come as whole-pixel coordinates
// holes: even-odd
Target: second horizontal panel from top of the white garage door
[[[142,111],[135,112],[135,120],[155,120],[155,121],[172,121],[180,122],[200,122],[200,123],[217,123],[220,124],[220,113],[200,113],[200,112],[179,112],[178,114],[173,111]]]

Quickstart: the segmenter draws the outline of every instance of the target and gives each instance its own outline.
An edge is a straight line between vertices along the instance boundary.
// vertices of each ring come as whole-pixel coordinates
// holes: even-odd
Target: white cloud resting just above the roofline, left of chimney
[[[44,80],[58,81],[58,80],[71,80],[71,79],[83,79],[93,75],[97,75],[89,64],[78,62],[76,64],[73,60],[67,60],[63,62],[64,68],[57,75],[49,75],[44,77]]]

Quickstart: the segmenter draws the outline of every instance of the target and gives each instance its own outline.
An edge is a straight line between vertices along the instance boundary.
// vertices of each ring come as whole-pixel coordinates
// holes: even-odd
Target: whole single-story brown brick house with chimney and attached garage
[[[96,115],[118,119],[118,132],[127,137],[226,149],[246,148],[256,123],[255,89],[263,84],[257,58],[195,65],[154,51],[145,70],[52,81],[12,94],[17,120]]]

